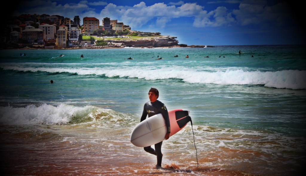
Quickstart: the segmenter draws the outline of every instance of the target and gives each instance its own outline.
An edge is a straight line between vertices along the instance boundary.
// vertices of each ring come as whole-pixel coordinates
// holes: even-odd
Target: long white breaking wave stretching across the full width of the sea
[[[142,65],[142,66],[141,66]],[[145,64],[144,64],[145,65]],[[182,79],[188,83],[201,84],[220,84],[220,85],[264,85],[274,88],[288,88],[288,89],[306,89],[306,71],[300,70],[282,70],[282,71],[250,71],[241,68],[189,68],[175,65],[169,67],[168,65],[159,65],[152,68],[140,64],[101,64],[95,68],[78,67],[64,67],[56,65],[56,67],[43,67],[37,65],[34,67],[26,67],[24,65],[8,64],[2,65],[6,70],[17,71],[46,71],[50,73],[68,72],[76,73],[78,75],[105,75],[107,77],[128,77],[145,80],[158,79]]]

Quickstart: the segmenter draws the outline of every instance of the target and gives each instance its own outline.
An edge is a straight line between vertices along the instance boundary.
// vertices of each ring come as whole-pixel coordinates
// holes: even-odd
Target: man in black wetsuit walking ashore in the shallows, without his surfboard
[[[156,88],[152,88],[149,90],[149,100],[147,103],[144,104],[144,110],[142,112],[142,116],[140,118],[140,122],[144,121],[147,116],[148,118],[154,116],[156,114],[161,113],[163,118],[165,119],[167,133],[165,135],[165,139],[170,138],[170,121],[169,121],[169,114],[166,106],[157,98],[159,97],[159,91]],[[162,141],[154,145],[155,150],[151,146],[144,147],[144,150],[148,153],[157,156],[157,164],[156,168],[162,167]]]

